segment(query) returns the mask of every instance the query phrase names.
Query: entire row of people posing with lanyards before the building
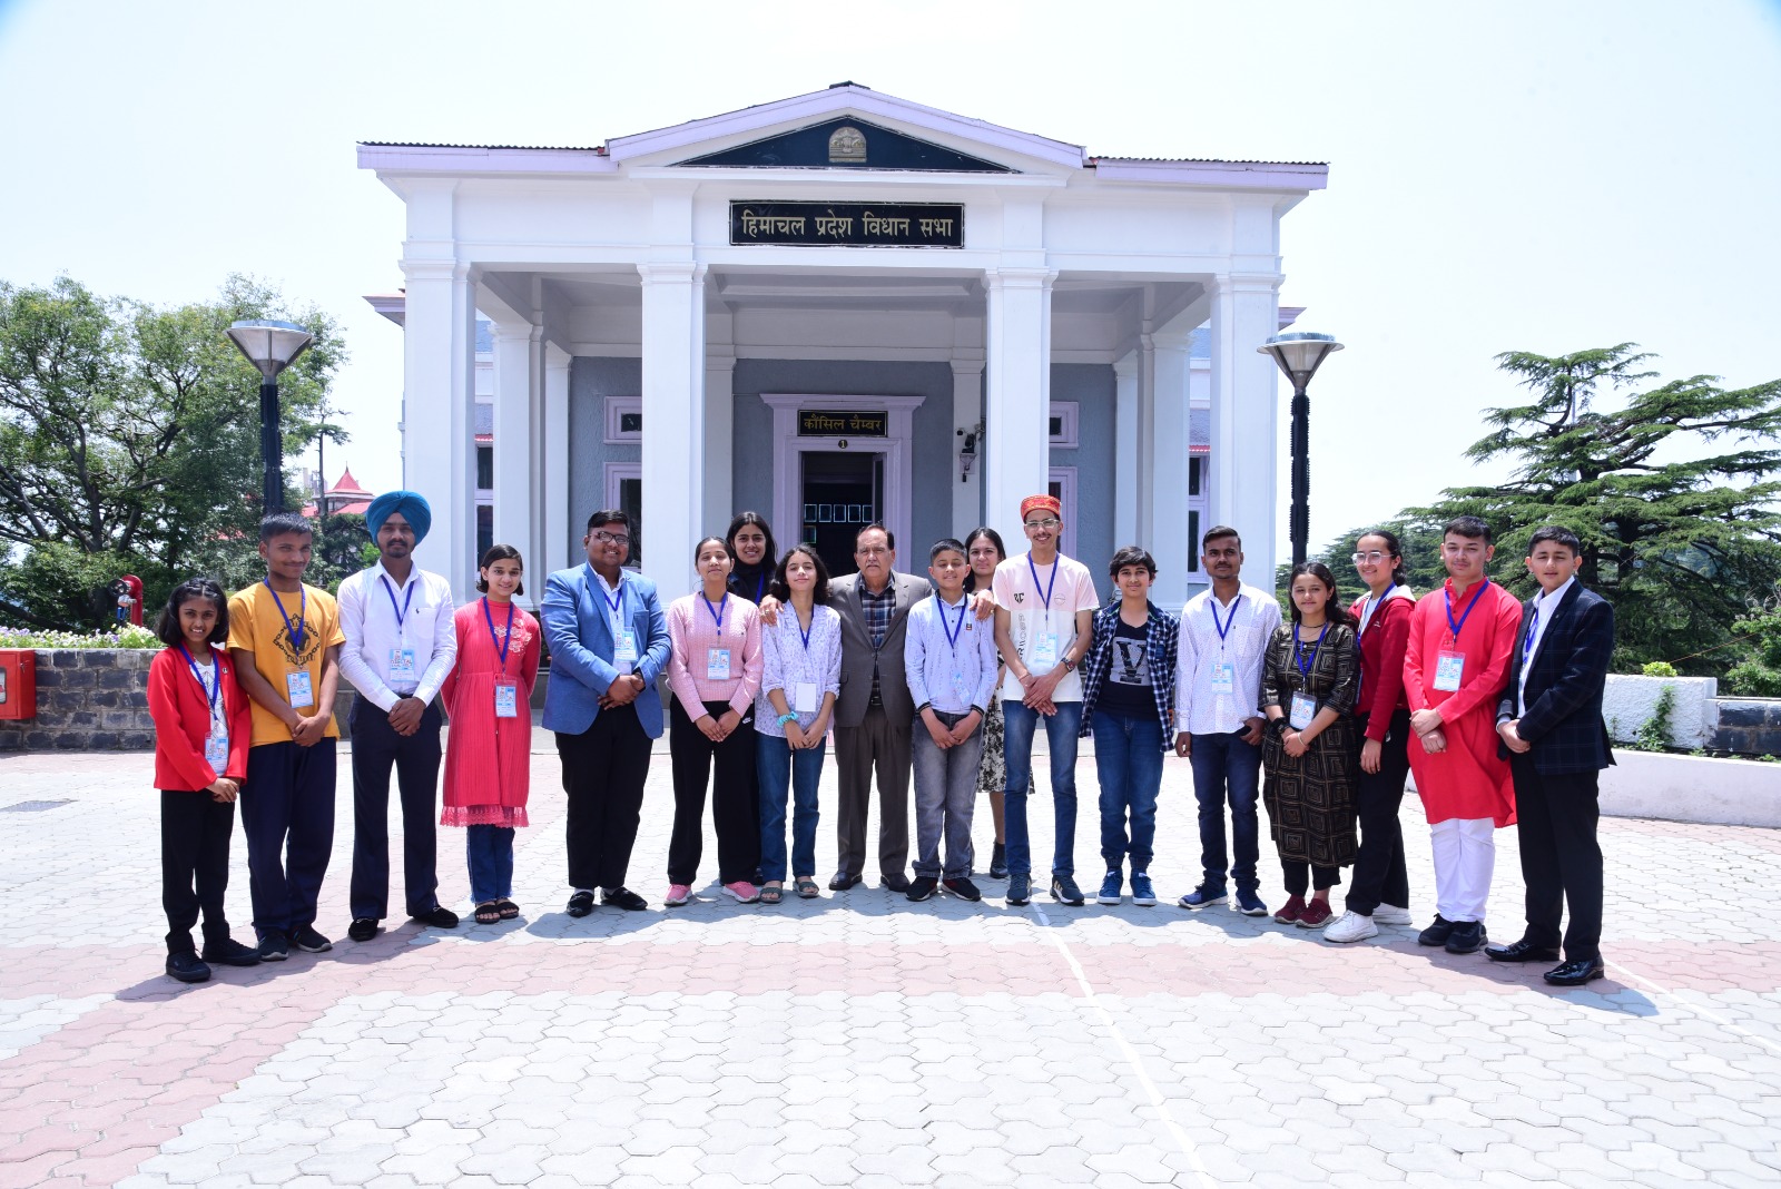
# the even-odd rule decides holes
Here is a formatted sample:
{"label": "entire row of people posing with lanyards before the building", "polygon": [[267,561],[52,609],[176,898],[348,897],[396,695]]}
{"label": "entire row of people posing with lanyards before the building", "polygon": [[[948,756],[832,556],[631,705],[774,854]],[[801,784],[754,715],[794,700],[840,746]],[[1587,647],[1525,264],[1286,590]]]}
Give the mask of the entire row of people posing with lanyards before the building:
{"label": "entire row of people posing with lanyards before the building", "polygon": [[[630,518],[597,511],[582,538],[586,564],[549,575],[533,618],[515,605],[524,561],[508,545],[481,559],[481,598],[452,607],[451,584],[413,564],[431,513],[411,491],[370,504],[379,561],[346,578],[338,600],[303,584],[308,522],[267,516],[264,582],[226,602],[214,582],[185,582],[159,623],[167,648],[150,673],[150,707],[167,974],[203,981],[207,963],[331,947],[315,929],[315,902],[333,845],[331,707],[342,675],[358,691],[349,936],[370,940],[388,915],[392,769],[406,913],[458,926],[436,899],[442,707],[452,732],[440,822],[467,828],[476,918],[516,917],[529,703],[549,648],[541,721],[556,735],[566,796],[570,917],[597,904],[648,908],[627,876],[666,683],[670,908],[698,886],[707,792],[723,895],[744,904],[821,895],[817,785],[830,735],[839,765],[830,890],[864,879],[876,787],[883,886],[912,901],[940,888],[981,899],[971,831],[976,797],[988,794],[988,874],[1008,881],[1008,904],[1026,904],[1026,796],[1033,735],[1044,728],[1049,892],[1061,904],[1086,902],[1074,870],[1079,737],[1095,740],[1097,902],[1118,904],[1127,878],[1134,904],[1156,902],[1156,803],[1174,751],[1191,762],[1204,870],[1179,904],[1227,902],[1234,883],[1232,908],[1268,913],[1259,794],[1288,894],[1273,918],[1325,929],[1330,942],[1411,920],[1398,808],[1414,771],[1435,860],[1435,918],[1419,940],[1459,954],[1485,949],[1494,829],[1517,822],[1528,926],[1487,954],[1558,961],[1569,902],[1565,961],[1546,979],[1601,977],[1596,778],[1614,762],[1601,721],[1614,619],[1576,584],[1582,546],[1569,530],[1533,534],[1526,564],[1541,593],[1526,605],[1485,577],[1494,545],[1482,520],[1446,525],[1450,577],[1419,600],[1403,584],[1396,536],[1370,532],[1354,554],[1368,593],[1343,607],[1329,568],[1304,562],[1291,571],[1282,621],[1272,594],[1241,582],[1234,529],[1204,534],[1209,589],[1175,618],[1149,598],[1156,562],[1143,548],[1113,555],[1117,594],[1102,603],[1088,568],[1060,548],[1058,500],[1028,497],[1021,520],[1026,552],[1010,557],[997,532],[980,527],[933,543],[926,578],[899,573],[892,534],[867,525],[855,539],[858,571],[832,578],[812,546],[780,554],[768,523],[743,513],[723,538],[695,545],[700,589],[664,609],[655,584],[625,566]],[[216,648],[224,643],[226,655]],[[255,947],[230,938],[223,913],[237,797]],[[1354,867],[1346,911],[1332,920],[1329,892],[1343,867]],[[201,952],[191,936],[199,915]]]}

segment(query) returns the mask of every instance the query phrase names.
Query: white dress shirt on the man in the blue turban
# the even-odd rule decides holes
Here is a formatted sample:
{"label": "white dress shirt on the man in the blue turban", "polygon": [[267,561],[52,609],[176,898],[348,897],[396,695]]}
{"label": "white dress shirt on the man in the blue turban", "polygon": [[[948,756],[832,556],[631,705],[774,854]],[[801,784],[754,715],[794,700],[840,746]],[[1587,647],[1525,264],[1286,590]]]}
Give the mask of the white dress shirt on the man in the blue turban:
{"label": "white dress shirt on the man in the blue turban", "polygon": [[[410,594],[413,591],[413,594]],[[378,708],[388,710],[403,698],[433,701],[445,675],[458,662],[458,628],[452,623],[451,582],[420,566],[397,582],[379,561],[340,582],[340,673]],[[397,623],[397,611],[406,611]],[[395,675],[399,650],[415,653],[413,676]]]}

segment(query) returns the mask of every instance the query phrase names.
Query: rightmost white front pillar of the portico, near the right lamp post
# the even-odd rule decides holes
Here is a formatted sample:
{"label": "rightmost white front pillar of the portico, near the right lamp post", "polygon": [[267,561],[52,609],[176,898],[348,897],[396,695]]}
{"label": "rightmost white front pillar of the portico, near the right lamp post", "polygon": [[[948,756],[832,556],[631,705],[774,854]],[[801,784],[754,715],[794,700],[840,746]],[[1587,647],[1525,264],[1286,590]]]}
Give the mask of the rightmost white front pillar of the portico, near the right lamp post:
{"label": "rightmost white front pillar of the portico, near the right lamp post", "polygon": [[[1213,281],[1211,523],[1243,538],[1243,580],[1273,589],[1277,557],[1281,408],[1275,365],[1259,347],[1275,333],[1279,274],[1225,274]],[[1211,525],[1208,525],[1211,527]]]}

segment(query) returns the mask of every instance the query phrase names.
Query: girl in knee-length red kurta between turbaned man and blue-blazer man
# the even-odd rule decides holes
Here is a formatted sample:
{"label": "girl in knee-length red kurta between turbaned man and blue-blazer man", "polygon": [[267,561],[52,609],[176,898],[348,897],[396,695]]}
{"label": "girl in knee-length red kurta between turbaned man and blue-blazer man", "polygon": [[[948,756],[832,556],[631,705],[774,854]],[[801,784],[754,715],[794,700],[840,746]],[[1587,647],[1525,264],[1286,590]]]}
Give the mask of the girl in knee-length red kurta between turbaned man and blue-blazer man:
{"label": "girl in knee-length red kurta between turbaned man and blue-blazer man", "polygon": [[513,831],[531,792],[533,685],[538,682],[538,619],[513,605],[524,594],[520,550],[483,554],[476,589],[458,609],[458,667],[440,687],[451,716],[442,826],[467,826],[470,899],[479,924],[520,915],[513,902]]}

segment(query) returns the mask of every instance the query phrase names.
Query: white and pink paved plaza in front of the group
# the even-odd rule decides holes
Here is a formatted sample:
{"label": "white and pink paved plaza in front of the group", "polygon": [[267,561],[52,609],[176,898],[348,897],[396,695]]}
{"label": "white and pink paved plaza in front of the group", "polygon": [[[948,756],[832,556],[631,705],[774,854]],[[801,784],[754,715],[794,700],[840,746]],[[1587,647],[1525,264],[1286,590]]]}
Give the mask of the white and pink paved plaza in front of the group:
{"label": "white and pink paved plaza in front of the group", "polygon": [[[871,867],[848,894],[737,906],[707,840],[698,902],[668,911],[657,753],[630,879],[652,910],[570,920],[540,753],[524,915],[397,918],[354,945],[342,753],[317,922],[333,952],[187,988],[160,974],[150,772],[146,755],[0,758],[0,1189],[1781,1184],[1781,831],[1605,821],[1608,977],[1555,991],[1414,927],[1334,947],[1175,908],[1199,867],[1179,760],[1156,908],[1008,908],[988,879],[981,904],[910,904]],[[1092,760],[1079,787],[1092,892]],[[832,806],[830,764],[823,883]],[[1049,797],[1031,817],[1049,854]],[[1403,826],[1425,924],[1414,797]],[[987,806],[976,837],[981,869]],[[249,938],[239,824],[233,858]],[[461,831],[440,829],[440,876],[468,913]],[[1519,936],[1519,897],[1509,829],[1492,938]]]}

